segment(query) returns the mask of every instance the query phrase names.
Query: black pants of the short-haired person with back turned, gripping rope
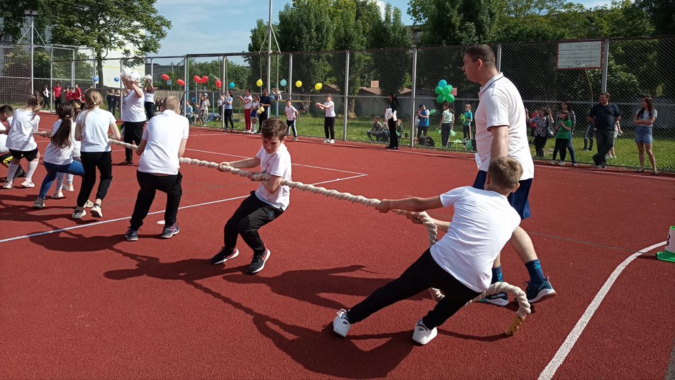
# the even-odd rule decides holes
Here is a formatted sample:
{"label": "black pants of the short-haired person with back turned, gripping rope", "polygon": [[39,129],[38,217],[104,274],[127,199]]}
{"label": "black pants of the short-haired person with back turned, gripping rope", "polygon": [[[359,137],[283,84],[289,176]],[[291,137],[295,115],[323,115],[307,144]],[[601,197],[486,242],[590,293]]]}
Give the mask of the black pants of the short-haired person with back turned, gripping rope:
{"label": "black pants of the short-haired person with back turned, gripping rope", "polygon": [[167,194],[167,208],[164,211],[164,227],[170,227],[176,223],[178,206],[181,202],[183,189],[181,183],[183,175],[178,173],[169,176],[158,176],[150,173],[136,172],[136,179],[140,189],[136,196],[136,204],[133,206],[131,215],[131,228],[138,230],[143,225],[143,219],[150,211],[152,201],[155,200],[157,190]]}

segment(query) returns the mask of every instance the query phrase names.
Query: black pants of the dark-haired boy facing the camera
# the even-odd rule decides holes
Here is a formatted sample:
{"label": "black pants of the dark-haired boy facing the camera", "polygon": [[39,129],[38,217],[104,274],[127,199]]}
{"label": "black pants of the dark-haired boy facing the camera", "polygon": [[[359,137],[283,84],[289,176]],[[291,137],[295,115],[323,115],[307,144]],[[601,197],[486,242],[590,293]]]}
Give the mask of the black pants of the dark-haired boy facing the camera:
{"label": "black pants of the dark-haired boy facing the camera", "polygon": [[264,203],[257,196],[255,191],[244,199],[234,215],[225,223],[225,251],[232,252],[237,246],[237,235],[253,250],[254,255],[263,255],[265,245],[260,239],[258,230],[272,220],[279,218],[284,213],[281,208],[276,208]]}

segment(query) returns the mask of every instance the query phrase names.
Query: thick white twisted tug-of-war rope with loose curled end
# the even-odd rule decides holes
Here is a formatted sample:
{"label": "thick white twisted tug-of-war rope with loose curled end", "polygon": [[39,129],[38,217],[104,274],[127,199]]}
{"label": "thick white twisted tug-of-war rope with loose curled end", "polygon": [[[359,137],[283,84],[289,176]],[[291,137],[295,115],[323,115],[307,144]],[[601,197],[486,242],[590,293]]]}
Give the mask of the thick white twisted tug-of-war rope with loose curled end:
{"label": "thick white twisted tug-of-war rope with loose curled end", "polygon": [[[119,145],[121,147],[125,147],[127,149],[136,149],[136,145],[128,144],[128,143],[123,143],[118,140],[110,140],[110,143],[113,145]],[[230,167],[228,165],[221,165],[217,164],[216,162],[208,162],[208,161],[203,161],[203,160],[195,160],[192,158],[188,157],[181,157],[179,159],[179,162],[183,164],[191,164],[191,165],[196,165],[199,167],[209,167],[213,169],[219,169],[222,172],[228,172],[232,174],[236,174],[240,177],[245,177],[248,179],[252,179],[253,181],[264,181],[270,178],[269,174],[267,173],[252,173],[252,172],[246,172],[245,170],[237,169],[235,167]],[[308,191],[313,194],[320,194],[323,196],[328,196],[329,198],[335,198],[340,201],[350,201],[352,203],[361,203],[364,204],[365,206],[370,206],[370,207],[375,207],[380,203],[379,199],[374,199],[374,198],[366,198],[364,196],[360,195],[353,195],[350,193],[340,193],[340,191],[336,190],[331,190],[331,189],[325,189],[324,187],[319,187],[319,186],[313,186],[311,184],[303,184],[302,182],[295,182],[295,181],[289,181],[286,179],[281,180],[281,185],[283,186],[289,186],[291,189],[297,189],[301,191]],[[420,212],[420,213],[415,213],[412,211],[405,211],[405,210],[392,210],[394,213],[397,213],[398,215],[403,215],[403,216],[413,216],[413,218],[418,219],[422,222],[422,224],[427,228],[427,238],[429,240],[429,245],[434,245],[436,242],[437,238],[437,228],[435,223],[433,222],[433,219],[429,216],[428,213],[425,212]],[[433,298],[436,301],[440,301],[444,296],[438,289],[429,289]],[[525,292],[523,289],[520,289],[518,286],[513,286],[510,284],[507,284],[506,282],[497,282],[495,284],[491,284],[491,286],[484,291],[481,295],[476,296],[476,298],[472,299],[467,303],[476,302],[480,301],[482,298],[485,298],[486,296],[491,296],[496,293],[500,292],[506,292],[508,294],[511,294],[512,296],[515,296],[515,300],[518,301],[518,311],[516,312],[517,318],[520,318],[520,322],[522,322],[523,318],[530,314],[530,303],[528,302],[528,298],[525,295]],[[513,326],[513,323],[512,323]],[[510,328],[511,329],[511,328]],[[518,327],[515,327],[515,330],[517,330]],[[513,333],[515,333],[515,330]],[[512,335],[507,334],[508,335]]]}

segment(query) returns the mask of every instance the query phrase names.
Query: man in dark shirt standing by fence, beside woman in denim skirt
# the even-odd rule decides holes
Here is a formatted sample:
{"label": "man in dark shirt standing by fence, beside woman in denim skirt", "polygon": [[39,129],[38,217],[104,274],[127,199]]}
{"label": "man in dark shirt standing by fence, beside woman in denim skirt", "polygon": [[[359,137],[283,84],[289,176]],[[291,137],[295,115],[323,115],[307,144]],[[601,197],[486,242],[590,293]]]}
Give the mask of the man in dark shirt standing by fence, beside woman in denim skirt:
{"label": "man in dark shirt standing by fence, beside woman in denim skirt", "polygon": [[596,147],[598,153],[593,155],[598,169],[607,167],[605,155],[614,147],[614,123],[621,118],[619,107],[609,102],[609,93],[607,91],[600,93],[600,103],[591,108],[588,113],[588,123],[596,128]]}

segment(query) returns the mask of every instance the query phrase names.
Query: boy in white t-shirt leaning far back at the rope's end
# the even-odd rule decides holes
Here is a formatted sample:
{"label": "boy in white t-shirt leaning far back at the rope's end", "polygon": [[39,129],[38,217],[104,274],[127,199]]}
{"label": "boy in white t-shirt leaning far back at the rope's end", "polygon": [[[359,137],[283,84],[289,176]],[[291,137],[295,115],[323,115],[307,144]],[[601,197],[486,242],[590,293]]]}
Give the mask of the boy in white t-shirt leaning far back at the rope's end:
{"label": "boy in white t-shirt leaning far back at the rope's end", "polygon": [[[432,311],[418,320],[413,340],[427,344],[437,334],[437,326],[457,313],[472,298],[486,291],[492,278],[492,263],[506,245],[520,216],[506,197],[518,189],[523,172],[518,161],[499,157],[490,162],[484,190],[459,187],[432,198],[384,200],[377,210],[426,211],[454,207],[450,222],[433,219],[443,238],[426,250],[398,279],[373,292],[350,311],[338,311],[333,330],[347,336],[354,323],[393,303],[428,288],[445,294]],[[415,223],[418,214],[409,216]]]}

